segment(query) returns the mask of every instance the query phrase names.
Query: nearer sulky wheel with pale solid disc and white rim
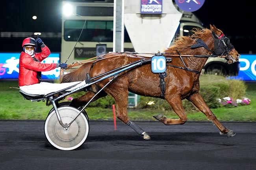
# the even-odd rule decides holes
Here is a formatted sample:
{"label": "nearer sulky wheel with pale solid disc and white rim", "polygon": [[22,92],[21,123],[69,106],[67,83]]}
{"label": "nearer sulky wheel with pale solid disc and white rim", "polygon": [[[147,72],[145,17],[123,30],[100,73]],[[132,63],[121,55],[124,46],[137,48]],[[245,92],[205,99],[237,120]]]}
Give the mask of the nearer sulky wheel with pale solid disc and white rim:
{"label": "nearer sulky wheel with pale solid disc and white rim", "polygon": [[[80,112],[72,106],[58,108],[63,124],[69,124]],[[45,120],[45,136],[54,147],[60,150],[74,150],[81,146],[89,133],[89,123],[83,114],[66,129],[59,124],[55,110],[52,110]]]}

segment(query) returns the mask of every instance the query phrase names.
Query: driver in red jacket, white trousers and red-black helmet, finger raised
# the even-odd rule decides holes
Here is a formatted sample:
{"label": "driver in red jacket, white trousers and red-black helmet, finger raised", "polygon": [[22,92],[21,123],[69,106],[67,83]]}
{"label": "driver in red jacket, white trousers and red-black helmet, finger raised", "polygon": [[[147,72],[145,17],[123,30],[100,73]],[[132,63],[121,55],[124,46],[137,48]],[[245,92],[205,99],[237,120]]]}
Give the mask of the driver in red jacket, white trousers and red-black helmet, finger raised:
{"label": "driver in red jacket, white trousers and red-black helmet, finger raised", "polygon": [[[41,46],[42,52],[35,53],[37,44]],[[51,92],[68,88],[80,82],[50,83],[42,82],[41,71],[50,71],[55,68],[66,68],[66,63],[42,63],[50,55],[50,49],[37,35],[25,38],[22,42],[23,51],[20,53],[19,61],[19,87],[20,90],[31,95],[46,95]]]}

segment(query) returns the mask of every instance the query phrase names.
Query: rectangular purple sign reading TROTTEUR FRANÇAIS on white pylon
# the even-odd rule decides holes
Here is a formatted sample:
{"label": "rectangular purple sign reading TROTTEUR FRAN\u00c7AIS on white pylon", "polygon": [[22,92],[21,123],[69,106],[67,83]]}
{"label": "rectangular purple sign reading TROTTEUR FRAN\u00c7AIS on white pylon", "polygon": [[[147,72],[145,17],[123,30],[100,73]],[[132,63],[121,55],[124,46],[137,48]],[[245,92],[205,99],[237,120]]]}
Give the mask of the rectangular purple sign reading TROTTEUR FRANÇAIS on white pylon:
{"label": "rectangular purple sign reading TROTTEUR FRAN\u00c7AIS on white pylon", "polygon": [[142,14],[161,14],[163,0],[141,0]]}

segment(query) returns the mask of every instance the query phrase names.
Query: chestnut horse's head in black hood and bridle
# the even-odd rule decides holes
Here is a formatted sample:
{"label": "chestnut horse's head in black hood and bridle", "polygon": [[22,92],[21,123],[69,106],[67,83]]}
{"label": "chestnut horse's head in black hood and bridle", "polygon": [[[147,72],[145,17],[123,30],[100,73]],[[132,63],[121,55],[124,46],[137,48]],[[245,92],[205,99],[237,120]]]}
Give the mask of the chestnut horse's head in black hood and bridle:
{"label": "chestnut horse's head in black hood and bridle", "polygon": [[220,29],[217,29],[214,25],[211,26],[211,34],[214,40],[214,50],[216,55],[225,56],[228,64],[232,64],[238,61],[240,54],[236,51],[234,46],[230,43],[228,37],[226,37]]}

